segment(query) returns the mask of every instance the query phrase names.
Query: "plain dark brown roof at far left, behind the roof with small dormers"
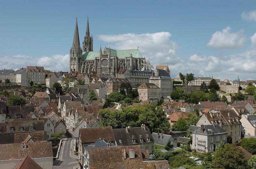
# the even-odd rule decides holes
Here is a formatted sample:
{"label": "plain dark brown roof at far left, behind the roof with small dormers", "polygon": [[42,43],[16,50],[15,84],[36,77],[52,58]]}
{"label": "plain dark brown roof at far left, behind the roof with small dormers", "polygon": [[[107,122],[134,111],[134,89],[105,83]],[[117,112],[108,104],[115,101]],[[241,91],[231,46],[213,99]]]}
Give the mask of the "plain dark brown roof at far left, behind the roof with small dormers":
{"label": "plain dark brown roof at far left, behind the roof with small dormers", "polygon": [[34,112],[34,106],[7,106],[7,115],[15,118],[15,114],[19,114],[22,118],[26,118],[30,112]]}

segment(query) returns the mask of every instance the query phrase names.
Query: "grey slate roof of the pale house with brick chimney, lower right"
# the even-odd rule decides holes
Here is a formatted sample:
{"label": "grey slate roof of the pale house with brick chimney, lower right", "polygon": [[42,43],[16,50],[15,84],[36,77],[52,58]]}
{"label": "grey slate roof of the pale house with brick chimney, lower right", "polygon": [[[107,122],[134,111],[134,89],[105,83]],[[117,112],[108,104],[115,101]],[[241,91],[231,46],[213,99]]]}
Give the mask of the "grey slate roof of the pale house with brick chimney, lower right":
{"label": "grey slate roof of the pale house with brick chimney, lower right", "polygon": [[[215,127],[213,127],[213,124],[204,125],[203,135],[209,136],[209,135],[213,135],[213,134],[227,133],[227,131],[222,129],[218,124],[215,124],[214,126]],[[195,129],[196,129],[196,134],[201,134],[201,127],[200,126],[190,125],[188,127],[188,131],[192,131],[192,133],[195,132]],[[213,134],[211,133],[211,131],[213,131]]]}

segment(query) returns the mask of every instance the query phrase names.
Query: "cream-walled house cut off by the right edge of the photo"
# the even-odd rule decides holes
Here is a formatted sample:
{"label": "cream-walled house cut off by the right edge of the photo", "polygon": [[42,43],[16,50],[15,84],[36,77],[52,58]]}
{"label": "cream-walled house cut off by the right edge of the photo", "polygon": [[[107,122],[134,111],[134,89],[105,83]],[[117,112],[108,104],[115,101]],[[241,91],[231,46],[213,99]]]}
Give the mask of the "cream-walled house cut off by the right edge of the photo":
{"label": "cream-walled house cut off by the right edge of the photo", "polygon": [[256,136],[256,114],[244,115],[242,114],[241,123],[244,128],[245,136]]}

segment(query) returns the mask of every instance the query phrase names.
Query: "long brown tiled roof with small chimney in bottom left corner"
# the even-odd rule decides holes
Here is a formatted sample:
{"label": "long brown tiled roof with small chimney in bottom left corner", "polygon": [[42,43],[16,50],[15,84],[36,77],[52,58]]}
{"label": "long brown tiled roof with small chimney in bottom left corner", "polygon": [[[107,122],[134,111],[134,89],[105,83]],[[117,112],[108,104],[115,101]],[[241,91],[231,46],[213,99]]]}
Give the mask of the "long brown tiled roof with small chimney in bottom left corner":
{"label": "long brown tiled roof with small chimney in bottom left corner", "polygon": [[27,143],[26,149],[21,149],[21,143],[0,144],[0,160],[53,157],[51,142]]}

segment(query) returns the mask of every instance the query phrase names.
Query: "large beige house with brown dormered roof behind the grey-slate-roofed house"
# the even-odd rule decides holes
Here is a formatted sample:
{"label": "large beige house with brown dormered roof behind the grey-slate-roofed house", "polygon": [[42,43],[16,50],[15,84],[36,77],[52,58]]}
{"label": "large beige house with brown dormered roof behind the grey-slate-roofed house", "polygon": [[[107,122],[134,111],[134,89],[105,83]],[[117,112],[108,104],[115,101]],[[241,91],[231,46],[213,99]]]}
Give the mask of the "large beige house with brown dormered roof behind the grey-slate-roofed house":
{"label": "large beige house with brown dormered roof behind the grey-slate-roofed house", "polygon": [[219,124],[219,126],[227,131],[228,136],[232,136],[232,141],[241,140],[241,117],[234,110],[219,110],[218,113],[205,113],[196,123],[196,126],[201,124]]}

